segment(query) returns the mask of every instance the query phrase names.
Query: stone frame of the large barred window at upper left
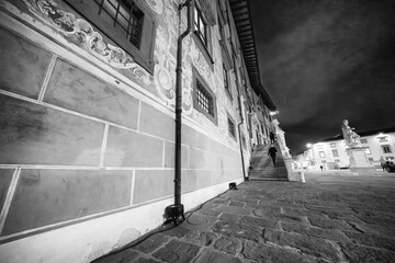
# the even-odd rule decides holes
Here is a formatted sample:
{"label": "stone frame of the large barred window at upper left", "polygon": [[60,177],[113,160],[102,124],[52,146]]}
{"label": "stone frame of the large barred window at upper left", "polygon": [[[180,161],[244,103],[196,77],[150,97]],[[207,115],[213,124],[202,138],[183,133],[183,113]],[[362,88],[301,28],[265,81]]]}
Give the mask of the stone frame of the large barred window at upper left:
{"label": "stone frame of the large barred window at upper left", "polygon": [[66,0],[66,2],[84,19],[87,19],[87,21],[98,27],[115,45],[131,55],[139,66],[146,69],[150,75],[154,75],[154,49],[157,25],[153,14],[150,13],[149,7],[143,4],[142,1],[131,0],[131,2],[133,2],[133,4],[137,7],[144,14],[142,22],[143,27],[140,33],[140,42],[138,46],[135,46],[126,38],[126,35],[120,34],[120,32],[112,30],[114,27],[114,21],[109,19],[110,15],[106,15],[108,18],[104,19],[102,13],[105,12],[101,12],[100,14],[98,13],[97,10],[99,10],[100,5],[95,1]]}

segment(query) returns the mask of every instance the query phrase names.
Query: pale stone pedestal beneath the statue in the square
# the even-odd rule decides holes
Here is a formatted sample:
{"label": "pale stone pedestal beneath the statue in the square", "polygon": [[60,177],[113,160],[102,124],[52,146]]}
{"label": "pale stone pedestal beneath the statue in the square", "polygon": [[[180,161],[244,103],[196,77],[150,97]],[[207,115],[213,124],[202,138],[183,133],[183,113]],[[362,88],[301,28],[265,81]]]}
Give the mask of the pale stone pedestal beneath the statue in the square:
{"label": "pale stone pedestal beneath the statue in the square", "polygon": [[350,158],[350,171],[359,175],[374,175],[375,168],[369,163],[366,147],[351,148],[347,150]]}

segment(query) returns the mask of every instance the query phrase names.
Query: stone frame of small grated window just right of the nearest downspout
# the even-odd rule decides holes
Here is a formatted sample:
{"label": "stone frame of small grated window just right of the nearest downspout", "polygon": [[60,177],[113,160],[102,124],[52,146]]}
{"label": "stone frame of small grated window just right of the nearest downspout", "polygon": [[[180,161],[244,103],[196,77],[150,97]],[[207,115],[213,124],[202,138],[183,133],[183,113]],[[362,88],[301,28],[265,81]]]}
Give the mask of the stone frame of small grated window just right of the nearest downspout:
{"label": "stone frame of small grated window just right of the nearest downspout", "polygon": [[[208,88],[208,84],[204,81],[203,77],[198,72],[196,69],[193,68],[193,107],[204,114],[210,121],[212,121],[215,125],[218,124],[217,119],[217,106],[216,106],[216,96],[214,92]],[[208,113],[205,108],[203,108],[198,102],[198,89],[203,89],[204,92],[210,96],[210,103],[212,107],[212,114]]]}

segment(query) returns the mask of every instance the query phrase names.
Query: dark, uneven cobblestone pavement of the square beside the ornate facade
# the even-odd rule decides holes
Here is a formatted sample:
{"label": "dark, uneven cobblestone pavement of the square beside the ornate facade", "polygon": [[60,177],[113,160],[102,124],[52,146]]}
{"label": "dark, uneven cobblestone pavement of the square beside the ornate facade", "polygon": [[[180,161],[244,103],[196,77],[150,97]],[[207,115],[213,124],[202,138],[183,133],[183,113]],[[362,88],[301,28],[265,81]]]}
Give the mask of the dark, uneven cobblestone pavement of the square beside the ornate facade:
{"label": "dark, uneven cobblestone pavement of the square beside the ornate facade", "polygon": [[395,174],[246,182],[97,263],[395,262]]}

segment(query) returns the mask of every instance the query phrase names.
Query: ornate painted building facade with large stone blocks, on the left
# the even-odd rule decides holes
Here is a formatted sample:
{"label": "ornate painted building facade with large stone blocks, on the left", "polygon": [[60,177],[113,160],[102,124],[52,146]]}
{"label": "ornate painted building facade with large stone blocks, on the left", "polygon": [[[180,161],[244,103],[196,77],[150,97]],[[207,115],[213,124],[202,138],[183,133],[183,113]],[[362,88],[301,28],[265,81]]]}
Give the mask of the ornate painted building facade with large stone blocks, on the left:
{"label": "ornate painted building facade with large stone blocks, on the left", "polygon": [[[0,1],[0,262],[90,262],[163,222],[183,3]],[[195,0],[192,13],[179,65],[185,210],[244,181],[275,110],[251,68],[248,1]]]}

